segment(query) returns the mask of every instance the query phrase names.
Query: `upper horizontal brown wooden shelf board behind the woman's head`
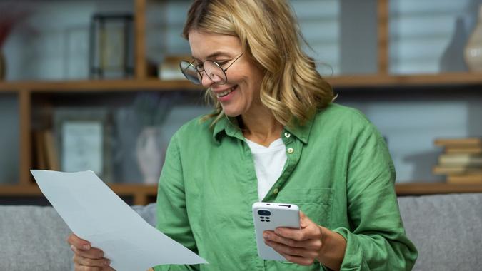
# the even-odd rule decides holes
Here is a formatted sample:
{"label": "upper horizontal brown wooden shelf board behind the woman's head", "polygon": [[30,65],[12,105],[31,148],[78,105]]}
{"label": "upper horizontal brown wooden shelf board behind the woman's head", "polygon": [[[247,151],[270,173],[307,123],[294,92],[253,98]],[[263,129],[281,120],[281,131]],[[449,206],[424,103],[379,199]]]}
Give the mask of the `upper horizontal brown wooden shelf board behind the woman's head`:
{"label": "upper horizontal brown wooden shelf board behind the woman's head", "polygon": [[[406,76],[353,75],[326,77],[334,88],[470,86],[482,85],[482,73],[438,73]],[[0,92],[28,90],[33,92],[79,91],[201,91],[189,81],[146,80],[79,80],[79,81],[4,81]]]}

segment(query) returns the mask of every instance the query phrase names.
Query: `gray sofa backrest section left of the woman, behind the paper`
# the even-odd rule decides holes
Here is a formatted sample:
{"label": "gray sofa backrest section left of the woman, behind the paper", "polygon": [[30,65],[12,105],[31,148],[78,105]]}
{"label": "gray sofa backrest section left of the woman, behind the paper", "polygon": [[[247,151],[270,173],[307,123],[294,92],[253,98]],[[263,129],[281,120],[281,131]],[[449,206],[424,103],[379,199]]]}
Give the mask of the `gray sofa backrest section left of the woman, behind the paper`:
{"label": "gray sofa backrest section left of the woman, behind the paper", "polygon": [[[156,205],[132,206],[156,224]],[[71,230],[51,207],[0,205],[0,270],[73,270]]]}

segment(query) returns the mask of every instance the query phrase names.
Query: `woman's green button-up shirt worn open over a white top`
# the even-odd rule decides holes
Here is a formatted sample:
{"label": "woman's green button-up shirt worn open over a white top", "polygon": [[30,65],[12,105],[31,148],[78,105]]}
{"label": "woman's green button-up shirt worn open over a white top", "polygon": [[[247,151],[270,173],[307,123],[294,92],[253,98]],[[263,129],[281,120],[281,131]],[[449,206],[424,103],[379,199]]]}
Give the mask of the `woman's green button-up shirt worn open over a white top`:
{"label": "woman's green button-up shirt worn open over a white top", "polygon": [[[171,138],[159,180],[157,228],[209,265],[155,270],[327,270],[261,260],[251,205],[258,201],[251,150],[235,118],[213,128],[199,118]],[[394,189],[395,169],[376,128],[331,103],[303,126],[284,128],[288,159],[265,202],[294,203],[347,242],[341,270],[411,270]]]}

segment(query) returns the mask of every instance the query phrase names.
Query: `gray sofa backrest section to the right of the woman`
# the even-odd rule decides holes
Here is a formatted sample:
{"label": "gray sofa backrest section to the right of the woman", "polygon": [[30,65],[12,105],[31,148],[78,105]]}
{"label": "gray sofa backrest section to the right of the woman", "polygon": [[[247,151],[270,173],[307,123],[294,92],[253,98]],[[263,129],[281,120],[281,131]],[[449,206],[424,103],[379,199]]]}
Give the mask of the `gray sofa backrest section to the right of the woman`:
{"label": "gray sofa backrest section to the right of the woman", "polygon": [[413,270],[481,270],[482,193],[399,197]]}

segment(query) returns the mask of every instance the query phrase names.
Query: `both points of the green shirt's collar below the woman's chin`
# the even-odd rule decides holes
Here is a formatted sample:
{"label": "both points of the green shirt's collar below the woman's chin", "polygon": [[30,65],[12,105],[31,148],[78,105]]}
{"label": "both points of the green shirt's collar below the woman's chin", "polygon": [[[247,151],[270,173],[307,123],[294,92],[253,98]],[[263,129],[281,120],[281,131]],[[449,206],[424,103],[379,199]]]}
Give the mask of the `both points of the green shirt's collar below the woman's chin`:
{"label": "both points of the green shirt's collar below the woman's chin", "polygon": [[[311,126],[313,126],[313,118],[316,117],[316,114],[308,119],[304,125],[300,125],[298,121],[295,121],[291,128],[285,127],[284,130],[288,133],[291,133],[293,136],[296,136],[301,142],[308,143],[308,138],[311,132]],[[233,136],[235,138],[239,138],[243,140],[243,133],[239,128],[239,122],[237,118],[231,117],[221,117],[219,121],[216,122],[214,125],[213,130],[213,138],[216,143],[220,143],[221,135],[224,132],[228,136]]]}

